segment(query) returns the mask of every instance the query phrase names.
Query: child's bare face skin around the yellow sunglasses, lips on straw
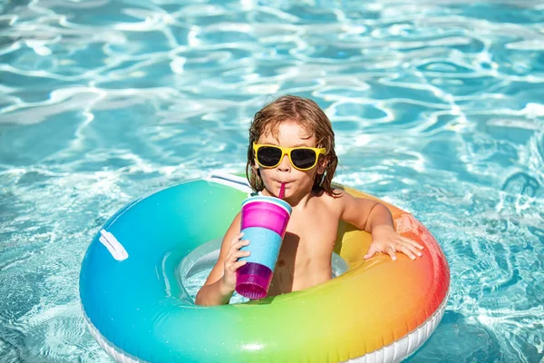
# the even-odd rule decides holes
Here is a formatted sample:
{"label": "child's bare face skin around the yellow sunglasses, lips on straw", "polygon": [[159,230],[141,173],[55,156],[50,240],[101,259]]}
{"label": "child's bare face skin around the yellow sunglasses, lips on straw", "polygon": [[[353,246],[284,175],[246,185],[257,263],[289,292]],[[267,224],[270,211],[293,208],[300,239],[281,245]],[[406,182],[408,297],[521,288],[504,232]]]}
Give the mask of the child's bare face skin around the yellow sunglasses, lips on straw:
{"label": "child's bare face skin around the yellow sunglasses, lips on straw", "polygon": [[[316,135],[307,132],[295,122],[279,123],[277,136],[270,131],[264,132],[257,140],[260,144],[278,145],[283,147],[317,146]],[[314,186],[316,174],[325,172],[326,160],[323,158],[316,163],[312,169],[307,171],[297,170],[284,155],[281,162],[274,168],[264,168],[257,163],[254,168],[259,169],[262,181],[265,184],[265,191],[270,195],[279,195],[283,182],[286,183],[285,198],[293,196],[302,197],[309,193]]]}

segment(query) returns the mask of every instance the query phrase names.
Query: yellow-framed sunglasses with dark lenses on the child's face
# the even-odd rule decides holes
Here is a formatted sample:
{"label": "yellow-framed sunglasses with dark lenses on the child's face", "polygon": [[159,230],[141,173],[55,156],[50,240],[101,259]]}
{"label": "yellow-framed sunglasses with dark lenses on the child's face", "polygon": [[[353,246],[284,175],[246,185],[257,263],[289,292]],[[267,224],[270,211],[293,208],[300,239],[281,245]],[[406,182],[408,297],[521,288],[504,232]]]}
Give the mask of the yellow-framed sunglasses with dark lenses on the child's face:
{"label": "yellow-framed sunglasses with dark lenses on the child's face", "polygon": [[319,155],[325,155],[325,148],[300,146],[286,148],[277,145],[266,145],[253,142],[253,151],[257,163],[263,168],[276,168],[284,155],[289,157],[291,164],[299,171],[307,171],[316,166]]}

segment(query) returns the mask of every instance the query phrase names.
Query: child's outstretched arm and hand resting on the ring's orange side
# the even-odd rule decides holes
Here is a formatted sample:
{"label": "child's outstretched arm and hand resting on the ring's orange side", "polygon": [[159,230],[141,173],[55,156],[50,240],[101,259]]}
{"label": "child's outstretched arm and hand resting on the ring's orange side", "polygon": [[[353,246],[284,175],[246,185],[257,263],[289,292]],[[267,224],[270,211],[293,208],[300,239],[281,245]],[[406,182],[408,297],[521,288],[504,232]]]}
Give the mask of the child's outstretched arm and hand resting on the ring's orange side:
{"label": "child's outstretched arm and hand resting on the ring's orange side", "polygon": [[352,223],[355,227],[372,234],[372,243],[364,255],[364,260],[374,256],[376,252],[387,253],[396,260],[396,251],[415,260],[415,256],[422,256],[423,246],[414,240],[407,239],[393,228],[391,212],[378,201],[364,198],[355,198],[343,192],[340,197],[342,211],[340,218]]}

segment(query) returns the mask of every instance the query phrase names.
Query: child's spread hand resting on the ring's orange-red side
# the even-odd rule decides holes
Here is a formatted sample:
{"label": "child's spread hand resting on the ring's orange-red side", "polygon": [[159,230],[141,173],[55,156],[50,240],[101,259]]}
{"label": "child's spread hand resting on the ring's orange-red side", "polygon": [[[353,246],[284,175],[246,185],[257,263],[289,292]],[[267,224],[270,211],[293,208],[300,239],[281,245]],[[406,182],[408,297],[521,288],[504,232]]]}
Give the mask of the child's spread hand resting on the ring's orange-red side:
{"label": "child's spread hand resting on the ring's orange-red side", "polygon": [[372,243],[368,252],[364,255],[364,260],[374,256],[376,252],[387,253],[392,260],[396,260],[395,251],[403,252],[406,256],[415,260],[415,256],[422,256],[423,246],[414,240],[407,239],[396,231],[393,227],[383,225],[376,226],[372,230]]}

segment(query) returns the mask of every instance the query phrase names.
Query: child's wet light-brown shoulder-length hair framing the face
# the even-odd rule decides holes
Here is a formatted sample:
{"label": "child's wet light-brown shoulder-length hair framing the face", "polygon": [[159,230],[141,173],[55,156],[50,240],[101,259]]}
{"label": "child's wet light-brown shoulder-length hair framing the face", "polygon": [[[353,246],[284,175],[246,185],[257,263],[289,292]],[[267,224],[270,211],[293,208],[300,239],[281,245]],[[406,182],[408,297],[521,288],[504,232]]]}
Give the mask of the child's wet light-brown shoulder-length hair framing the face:
{"label": "child's wet light-brown shoulder-length hair framing the face", "polygon": [[335,176],[338,158],[335,153],[335,132],[326,114],[312,100],[285,95],[277,100],[268,103],[260,111],[255,113],[253,122],[249,127],[248,164],[246,165],[246,176],[253,191],[265,189],[260,173],[253,168],[256,164],[253,142],[265,132],[271,132],[277,136],[280,123],[297,123],[306,132],[316,136],[318,148],[325,148],[326,155],[320,158],[327,158],[325,172],[317,174],[314,180],[314,189],[322,189],[328,195],[335,196],[331,182]]}

